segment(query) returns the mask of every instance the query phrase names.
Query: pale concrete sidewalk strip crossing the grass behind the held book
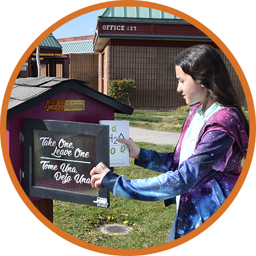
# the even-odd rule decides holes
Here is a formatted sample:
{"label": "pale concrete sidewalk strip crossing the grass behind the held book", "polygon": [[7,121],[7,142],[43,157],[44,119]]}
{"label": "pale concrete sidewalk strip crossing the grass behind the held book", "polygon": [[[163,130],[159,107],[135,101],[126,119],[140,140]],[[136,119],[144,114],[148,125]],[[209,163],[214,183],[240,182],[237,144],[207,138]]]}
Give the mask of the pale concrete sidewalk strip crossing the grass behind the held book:
{"label": "pale concrete sidewalk strip crossing the grass behind the held book", "polygon": [[168,133],[130,127],[130,137],[135,142],[151,142],[157,145],[170,144],[176,146],[180,133]]}

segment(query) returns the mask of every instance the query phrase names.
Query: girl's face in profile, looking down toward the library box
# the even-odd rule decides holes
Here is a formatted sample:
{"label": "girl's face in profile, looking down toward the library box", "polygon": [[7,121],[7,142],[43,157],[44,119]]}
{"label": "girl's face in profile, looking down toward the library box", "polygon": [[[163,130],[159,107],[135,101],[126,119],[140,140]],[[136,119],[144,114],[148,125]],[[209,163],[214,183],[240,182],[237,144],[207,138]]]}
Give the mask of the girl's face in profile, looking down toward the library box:
{"label": "girl's face in profile, looking down toward the library box", "polygon": [[188,74],[184,73],[180,66],[175,67],[176,77],[179,81],[177,92],[182,93],[183,99],[188,105],[203,102],[206,95],[206,87],[196,81]]}

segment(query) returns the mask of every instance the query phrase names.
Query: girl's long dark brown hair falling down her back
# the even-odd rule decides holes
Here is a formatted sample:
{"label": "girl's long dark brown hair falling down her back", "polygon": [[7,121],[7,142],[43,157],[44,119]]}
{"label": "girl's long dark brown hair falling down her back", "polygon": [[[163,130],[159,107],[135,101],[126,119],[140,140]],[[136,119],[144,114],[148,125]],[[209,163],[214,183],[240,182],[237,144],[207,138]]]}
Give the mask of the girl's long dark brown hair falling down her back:
{"label": "girl's long dark brown hair falling down her back", "polygon": [[226,65],[216,49],[209,45],[189,47],[178,55],[176,65],[181,67],[183,72],[190,75],[197,83],[206,87],[207,93],[202,102],[203,106],[206,106],[211,98],[222,106],[237,108],[243,117],[249,135],[249,122],[233,88]]}

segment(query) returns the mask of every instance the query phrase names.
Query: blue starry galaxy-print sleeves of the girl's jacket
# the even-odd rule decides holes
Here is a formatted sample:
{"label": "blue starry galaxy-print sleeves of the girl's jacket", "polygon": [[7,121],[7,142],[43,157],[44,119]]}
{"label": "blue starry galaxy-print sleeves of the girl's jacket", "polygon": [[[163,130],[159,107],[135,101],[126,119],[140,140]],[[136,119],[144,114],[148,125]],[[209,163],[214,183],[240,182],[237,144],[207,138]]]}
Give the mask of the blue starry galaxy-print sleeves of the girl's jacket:
{"label": "blue starry galaxy-print sleeves of the girl's jacket", "polygon": [[[175,172],[168,171],[157,177],[136,180],[126,180],[123,175],[109,172],[101,186],[115,196],[126,199],[160,201],[173,198],[194,189],[209,177],[216,177],[228,162],[233,142],[227,133],[212,131],[203,136],[194,153]],[[142,152],[145,153],[144,150]],[[153,166],[153,169],[160,169],[161,166],[169,166],[171,161],[171,157],[166,157],[165,153],[155,151],[147,152],[146,157],[142,164],[146,168]],[[165,162],[156,164],[156,159],[157,162],[159,159]]]}

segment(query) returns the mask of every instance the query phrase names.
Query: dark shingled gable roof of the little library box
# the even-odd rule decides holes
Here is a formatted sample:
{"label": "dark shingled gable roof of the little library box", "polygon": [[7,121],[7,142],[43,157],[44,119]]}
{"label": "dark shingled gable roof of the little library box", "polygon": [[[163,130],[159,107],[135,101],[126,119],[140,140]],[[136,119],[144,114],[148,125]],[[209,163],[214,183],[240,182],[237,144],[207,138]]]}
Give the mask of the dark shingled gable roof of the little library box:
{"label": "dark shingled gable roof of the little library box", "polygon": [[133,113],[130,106],[90,88],[87,84],[86,81],[59,77],[18,78],[10,96],[7,118],[70,89],[113,106],[115,112],[130,115]]}

